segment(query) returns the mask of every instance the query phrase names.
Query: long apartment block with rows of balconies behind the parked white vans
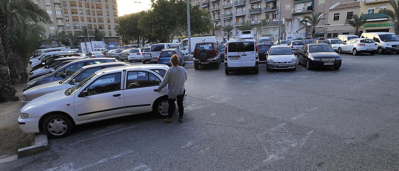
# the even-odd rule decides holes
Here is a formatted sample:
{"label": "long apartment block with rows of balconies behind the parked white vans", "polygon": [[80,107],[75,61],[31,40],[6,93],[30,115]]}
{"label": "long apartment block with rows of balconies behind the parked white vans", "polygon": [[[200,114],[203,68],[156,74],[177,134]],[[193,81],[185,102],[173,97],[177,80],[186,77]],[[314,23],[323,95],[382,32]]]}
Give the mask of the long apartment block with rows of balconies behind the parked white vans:
{"label": "long apartment block with rows of balconies behind the parked white vans", "polygon": [[[354,0],[281,0],[281,18],[300,18],[311,15],[312,12],[322,12],[326,14],[326,20],[322,20],[316,28],[316,36],[326,36],[326,26],[329,18],[329,8],[340,2],[353,2]],[[190,0],[192,5],[198,5],[200,8],[208,11],[212,22],[221,26],[232,25],[239,26],[241,22],[249,20],[252,24],[258,24],[260,20],[267,19],[276,21],[279,19],[278,11],[280,8],[279,0]],[[256,26],[253,30],[259,30]],[[238,35],[237,29],[231,32],[231,35]],[[311,34],[308,28],[306,34]],[[224,37],[226,33],[222,30],[215,32],[217,37]],[[262,35],[255,35],[259,38]]]}

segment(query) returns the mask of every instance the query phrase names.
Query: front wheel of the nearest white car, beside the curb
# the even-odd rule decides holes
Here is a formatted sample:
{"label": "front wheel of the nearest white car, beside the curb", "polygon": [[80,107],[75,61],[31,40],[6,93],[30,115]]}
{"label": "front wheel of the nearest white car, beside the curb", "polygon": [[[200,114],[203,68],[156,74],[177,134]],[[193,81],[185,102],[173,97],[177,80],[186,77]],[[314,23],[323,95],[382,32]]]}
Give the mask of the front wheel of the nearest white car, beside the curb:
{"label": "front wheel of the nearest white car, beside the curb", "polygon": [[42,130],[51,138],[63,138],[68,136],[74,123],[69,117],[61,114],[51,114],[43,120]]}

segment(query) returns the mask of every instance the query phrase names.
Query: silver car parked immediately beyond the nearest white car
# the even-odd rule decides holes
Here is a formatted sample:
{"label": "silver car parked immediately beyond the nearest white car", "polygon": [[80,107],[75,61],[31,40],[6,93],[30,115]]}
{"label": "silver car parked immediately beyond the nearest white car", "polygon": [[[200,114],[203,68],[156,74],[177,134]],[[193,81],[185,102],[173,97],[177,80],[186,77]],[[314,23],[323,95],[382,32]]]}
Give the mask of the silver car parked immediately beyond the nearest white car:
{"label": "silver car parked immediately beyond the nearest white car", "polygon": [[29,101],[36,99],[42,95],[73,87],[98,70],[127,65],[130,64],[126,64],[124,62],[106,62],[102,64],[83,66],[80,70],[77,70],[77,72],[73,73],[70,77],[65,78],[64,80],[49,82],[38,85],[36,87],[32,87],[31,89],[27,89],[26,91],[24,91],[24,93],[22,93],[22,97],[24,97],[25,99],[24,101],[22,101],[22,103],[26,104]]}

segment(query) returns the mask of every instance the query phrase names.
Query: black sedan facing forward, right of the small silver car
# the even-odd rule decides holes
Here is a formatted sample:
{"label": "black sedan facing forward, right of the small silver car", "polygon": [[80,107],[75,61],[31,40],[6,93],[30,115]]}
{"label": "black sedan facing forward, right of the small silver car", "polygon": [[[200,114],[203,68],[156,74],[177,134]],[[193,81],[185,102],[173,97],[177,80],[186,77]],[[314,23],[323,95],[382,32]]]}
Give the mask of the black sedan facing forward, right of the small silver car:
{"label": "black sedan facing forward, right of the small silver car", "polygon": [[306,44],[298,50],[298,65],[306,64],[306,69],[341,67],[341,57],[328,44]]}

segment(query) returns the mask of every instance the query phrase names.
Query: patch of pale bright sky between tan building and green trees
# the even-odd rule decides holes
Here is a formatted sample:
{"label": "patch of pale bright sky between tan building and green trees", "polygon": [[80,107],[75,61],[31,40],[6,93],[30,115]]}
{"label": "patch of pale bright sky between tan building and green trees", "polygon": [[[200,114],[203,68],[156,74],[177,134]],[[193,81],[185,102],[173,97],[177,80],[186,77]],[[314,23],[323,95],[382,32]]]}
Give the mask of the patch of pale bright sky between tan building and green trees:
{"label": "patch of pale bright sky between tan building and green trees", "polygon": [[151,0],[117,0],[117,3],[118,16],[132,14],[151,8]]}

